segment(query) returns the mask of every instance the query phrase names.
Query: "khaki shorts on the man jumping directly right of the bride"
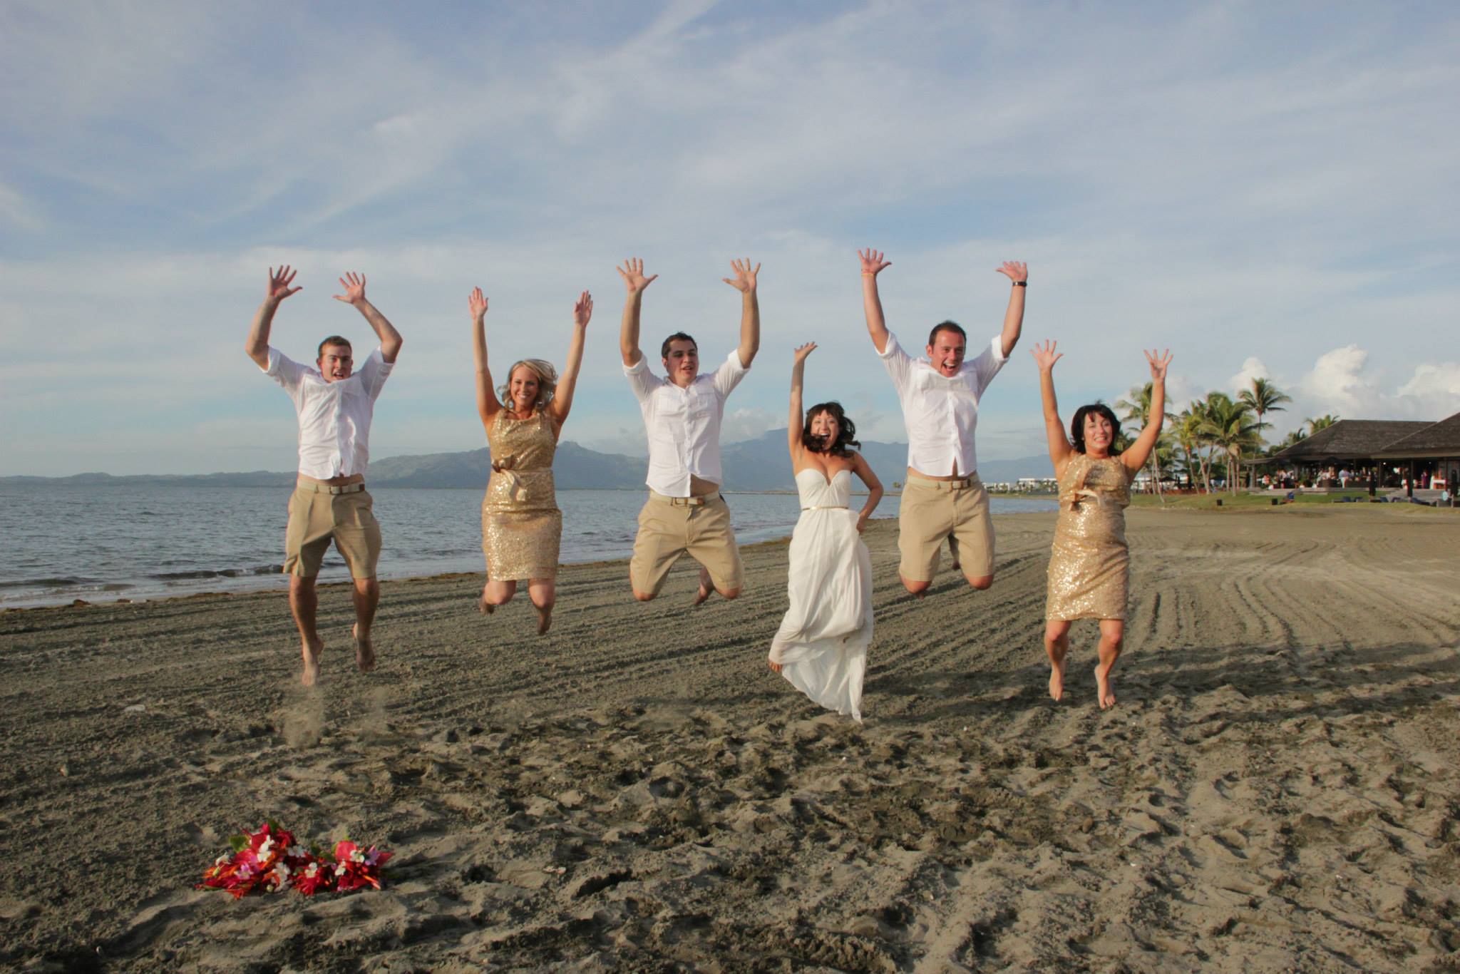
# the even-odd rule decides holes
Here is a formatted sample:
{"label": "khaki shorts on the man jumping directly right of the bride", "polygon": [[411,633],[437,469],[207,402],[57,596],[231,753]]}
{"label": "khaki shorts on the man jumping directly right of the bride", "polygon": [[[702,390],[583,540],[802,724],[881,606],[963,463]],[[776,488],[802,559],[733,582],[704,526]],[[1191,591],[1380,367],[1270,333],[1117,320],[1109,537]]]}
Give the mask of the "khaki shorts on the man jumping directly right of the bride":
{"label": "khaki shorts on the man jumping directly right of the bride", "polygon": [[929,480],[910,473],[898,513],[898,572],[908,581],[931,581],[949,534],[958,540],[965,577],[994,574],[994,523],[988,517],[988,492],[978,478]]}

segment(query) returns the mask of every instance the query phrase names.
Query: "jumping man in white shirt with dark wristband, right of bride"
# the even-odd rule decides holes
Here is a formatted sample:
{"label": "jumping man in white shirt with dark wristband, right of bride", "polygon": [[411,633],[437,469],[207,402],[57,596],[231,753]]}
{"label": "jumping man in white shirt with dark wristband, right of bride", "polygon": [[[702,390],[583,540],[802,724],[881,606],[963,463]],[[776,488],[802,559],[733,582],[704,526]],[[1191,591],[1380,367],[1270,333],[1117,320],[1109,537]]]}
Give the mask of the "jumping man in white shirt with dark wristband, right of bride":
{"label": "jumping man in white shirt with dark wristband, right of bride", "polygon": [[994,526],[988,517],[988,494],[978,480],[974,428],[984,388],[1019,340],[1023,326],[1023,295],[1029,279],[1025,264],[1006,261],[999,273],[1012,282],[1003,330],[971,362],[964,361],[967,336],[953,321],[933,327],[927,358],[912,359],[882,318],[877,275],[891,261],[883,254],[857,251],[861,258],[861,304],[867,333],[882,356],[902,404],[908,431],[907,485],[898,513],[898,574],[902,586],[921,597],[937,572],[943,539],[949,537],[955,564],[974,588],[994,581]]}

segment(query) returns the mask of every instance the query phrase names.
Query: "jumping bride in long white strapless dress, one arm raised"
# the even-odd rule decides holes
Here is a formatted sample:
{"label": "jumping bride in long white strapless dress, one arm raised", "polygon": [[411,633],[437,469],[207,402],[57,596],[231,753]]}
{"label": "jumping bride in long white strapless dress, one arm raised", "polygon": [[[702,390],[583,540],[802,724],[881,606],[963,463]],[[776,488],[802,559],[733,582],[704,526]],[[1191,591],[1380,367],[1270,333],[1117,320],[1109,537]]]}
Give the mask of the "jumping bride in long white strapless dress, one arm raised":
{"label": "jumping bride in long white strapless dress, one arm raised", "polygon": [[[771,669],[826,710],[861,723],[861,680],[872,643],[872,556],[861,529],[882,499],[882,482],[860,453],[857,426],[841,403],[802,412],[806,356],[791,367],[787,444],[802,515],[791,533],[785,590],[791,607],[771,640]],[[867,485],[867,502],[851,513],[851,475]]]}

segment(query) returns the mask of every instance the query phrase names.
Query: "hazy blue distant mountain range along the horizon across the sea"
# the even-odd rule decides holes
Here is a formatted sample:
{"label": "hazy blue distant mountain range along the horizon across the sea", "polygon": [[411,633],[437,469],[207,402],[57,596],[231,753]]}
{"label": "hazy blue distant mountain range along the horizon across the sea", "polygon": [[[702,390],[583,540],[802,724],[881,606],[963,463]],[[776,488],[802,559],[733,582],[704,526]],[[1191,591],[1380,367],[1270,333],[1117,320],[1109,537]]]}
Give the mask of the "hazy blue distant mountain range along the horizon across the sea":
{"label": "hazy blue distant mountain range along the horizon across the sea", "polygon": [[[861,444],[861,454],[886,486],[904,479],[907,469],[905,442]],[[791,463],[785,454],[785,431],[772,429],[755,440],[729,442],[720,451],[727,491],[794,491]],[[553,460],[553,480],[568,489],[644,488],[645,460],[622,453],[599,453],[571,441],[558,445]],[[980,476],[986,483],[1048,476],[1048,457],[1019,460],[986,460]],[[369,464],[371,486],[404,488],[473,488],[486,486],[491,476],[492,453],[488,448],[461,453],[431,453],[410,457],[385,457]],[[250,473],[200,475],[139,475],[77,473],[69,478],[0,478],[0,483],[69,483],[69,485],[212,485],[212,486],[288,486],[295,475],[289,472],[254,470]]]}

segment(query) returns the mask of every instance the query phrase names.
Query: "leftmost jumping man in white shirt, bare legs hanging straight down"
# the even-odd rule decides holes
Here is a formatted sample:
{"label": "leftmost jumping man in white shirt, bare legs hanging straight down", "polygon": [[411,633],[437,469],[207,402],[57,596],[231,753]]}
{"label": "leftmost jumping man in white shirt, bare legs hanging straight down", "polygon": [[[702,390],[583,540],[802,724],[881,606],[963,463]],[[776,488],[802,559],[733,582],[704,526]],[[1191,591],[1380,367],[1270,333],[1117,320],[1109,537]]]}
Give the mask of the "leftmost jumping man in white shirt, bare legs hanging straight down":
{"label": "leftmost jumping man in white shirt, bare legs hanging straight down", "polygon": [[336,301],[353,305],[380,339],[380,348],[356,371],[349,339],[331,334],[320,342],[317,368],[291,361],[269,345],[279,302],[299,291],[291,288],[296,272],[269,269],[269,294],[254,314],[244,350],[293,400],[299,415],[299,479],[289,498],[283,570],[289,572],[289,607],[304,648],[304,685],[320,676],[324,643],[315,629],[318,599],[314,580],[330,542],[345,556],[355,583],[355,663],[361,672],[375,666],[369,628],[380,605],[375,564],[380,561],[380,524],[365,492],[369,461],[369,423],[385,378],[400,353],[400,333],[365,299],[365,276],[340,277],[345,294]]}

